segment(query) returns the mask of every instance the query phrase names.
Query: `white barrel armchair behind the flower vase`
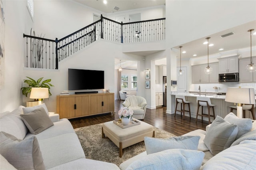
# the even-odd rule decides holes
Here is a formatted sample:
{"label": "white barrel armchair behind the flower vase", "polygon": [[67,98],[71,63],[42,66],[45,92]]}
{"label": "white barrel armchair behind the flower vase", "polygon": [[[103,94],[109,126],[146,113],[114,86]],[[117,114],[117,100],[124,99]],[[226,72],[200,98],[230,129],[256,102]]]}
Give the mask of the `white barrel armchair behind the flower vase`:
{"label": "white barrel armchair behind the flower vase", "polygon": [[132,109],[133,118],[140,120],[144,119],[147,109],[147,101],[143,97],[131,95],[125,99],[122,105]]}

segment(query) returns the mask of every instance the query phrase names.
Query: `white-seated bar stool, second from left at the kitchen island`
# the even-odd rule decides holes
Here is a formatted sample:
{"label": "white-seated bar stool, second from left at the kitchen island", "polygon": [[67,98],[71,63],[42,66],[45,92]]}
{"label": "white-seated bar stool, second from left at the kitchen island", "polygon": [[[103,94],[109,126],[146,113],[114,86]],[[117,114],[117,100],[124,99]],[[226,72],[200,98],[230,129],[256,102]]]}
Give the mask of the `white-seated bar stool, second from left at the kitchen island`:
{"label": "white-seated bar stool, second from left at the kitchen island", "polygon": [[[197,103],[196,122],[197,122],[197,117],[199,115],[199,116],[202,117],[202,122],[203,122],[203,117],[208,117],[209,124],[210,124],[211,123],[211,118],[210,117],[213,117],[215,119],[214,106],[216,106],[216,105],[213,105],[211,103],[211,100],[210,100],[209,97],[196,97],[196,103]],[[201,115],[198,114],[200,106],[202,106]],[[203,113],[204,107],[208,108],[208,114]],[[212,108],[213,115],[210,114],[210,108]]]}

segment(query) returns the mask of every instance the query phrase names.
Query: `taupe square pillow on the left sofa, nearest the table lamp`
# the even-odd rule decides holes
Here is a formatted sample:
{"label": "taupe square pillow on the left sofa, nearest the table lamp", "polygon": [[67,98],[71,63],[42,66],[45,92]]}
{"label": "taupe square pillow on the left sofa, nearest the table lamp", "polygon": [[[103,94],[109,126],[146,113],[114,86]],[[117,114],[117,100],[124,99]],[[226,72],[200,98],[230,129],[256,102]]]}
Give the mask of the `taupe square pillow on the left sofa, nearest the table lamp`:
{"label": "taupe square pillow on the left sofa, nearest the table lamp", "polygon": [[38,134],[54,125],[42,107],[30,113],[22,114],[20,117],[32,134]]}

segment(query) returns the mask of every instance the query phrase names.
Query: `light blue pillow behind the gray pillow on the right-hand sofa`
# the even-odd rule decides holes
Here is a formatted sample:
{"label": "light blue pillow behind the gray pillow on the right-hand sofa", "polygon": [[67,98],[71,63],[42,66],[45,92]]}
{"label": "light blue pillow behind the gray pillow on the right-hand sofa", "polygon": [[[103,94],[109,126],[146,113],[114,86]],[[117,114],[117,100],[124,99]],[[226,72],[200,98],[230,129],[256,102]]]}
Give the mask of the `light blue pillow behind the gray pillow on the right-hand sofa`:
{"label": "light blue pillow behind the gray pillow on the right-hand sofa", "polygon": [[246,134],[252,129],[252,119],[246,119],[246,118],[238,118],[234,113],[229,113],[224,118],[225,121],[228,121],[229,123],[234,123],[237,125],[238,132],[236,139],[240,138],[243,134]]}

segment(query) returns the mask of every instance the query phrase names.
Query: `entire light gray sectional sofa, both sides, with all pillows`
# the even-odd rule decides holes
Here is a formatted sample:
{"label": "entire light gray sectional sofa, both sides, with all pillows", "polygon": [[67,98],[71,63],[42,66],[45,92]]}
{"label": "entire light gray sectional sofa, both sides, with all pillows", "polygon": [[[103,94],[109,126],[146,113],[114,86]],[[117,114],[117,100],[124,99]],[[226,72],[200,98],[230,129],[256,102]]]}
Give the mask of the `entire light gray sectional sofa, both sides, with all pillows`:
{"label": "entire light gray sectional sofa, both sides, with all pillows", "polygon": [[[120,166],[86,159],[68,119],[48,115],[46,106],[20,106],[0,114],[0,169],[49,170],[253,170],[256,122],[233,113],[216,117],[205,130],[170,139],[145,137],[146,151]],[[161,147],[160,147],[161,146]]]}

